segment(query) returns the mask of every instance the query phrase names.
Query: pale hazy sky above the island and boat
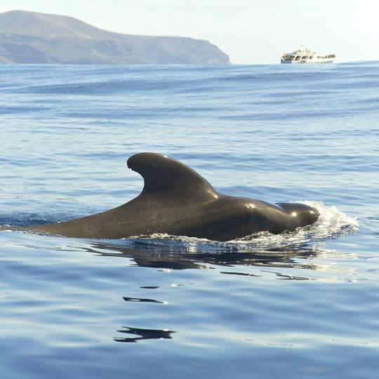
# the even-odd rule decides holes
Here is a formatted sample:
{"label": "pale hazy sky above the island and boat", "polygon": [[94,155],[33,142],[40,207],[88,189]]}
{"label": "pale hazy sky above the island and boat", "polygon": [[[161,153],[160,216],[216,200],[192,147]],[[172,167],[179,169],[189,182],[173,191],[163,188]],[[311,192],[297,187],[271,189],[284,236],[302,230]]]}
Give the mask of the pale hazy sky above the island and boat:
{"label": "pale hazy sky above the island and boat", "polygon": [[275,63],[305,45],[338,61],[379,60],[379,0],[0,0],[112,32],[208,39],[232,63]]}

